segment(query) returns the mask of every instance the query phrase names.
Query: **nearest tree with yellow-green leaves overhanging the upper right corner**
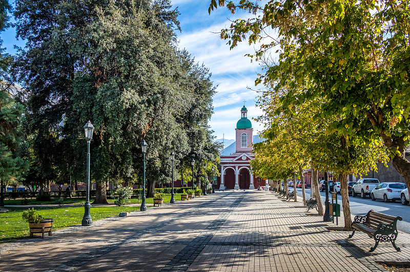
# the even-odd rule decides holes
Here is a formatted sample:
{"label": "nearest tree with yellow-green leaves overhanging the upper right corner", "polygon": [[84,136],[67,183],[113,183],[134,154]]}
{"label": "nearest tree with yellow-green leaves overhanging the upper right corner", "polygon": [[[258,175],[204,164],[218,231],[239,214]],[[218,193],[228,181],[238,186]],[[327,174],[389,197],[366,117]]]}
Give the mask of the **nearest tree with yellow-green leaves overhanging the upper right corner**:
{"label": "nearest tree with yellow-green leaves overhanging the upper right corner", "polygon": [[[267,60],[271,48],[280,48],[278,61],[256,83],[275,82],[275,89],[287,86],[285,107],[320,98],[323,103],[315,118],[337,116],[327,130],[337,133],[346,147],[377,145],[381,138],[410,186],[410,162],[405,159],[410,125],[407,1],[300,0],[259,7],[252,1],[212,0],[209,11],[225,4],[232,12],[253,14],[222,30],[231,48],[246,37],[250,44],[263,42],[268,28],[278,33],[250,54]],[[303,92],[298,91],[301,86]]]}

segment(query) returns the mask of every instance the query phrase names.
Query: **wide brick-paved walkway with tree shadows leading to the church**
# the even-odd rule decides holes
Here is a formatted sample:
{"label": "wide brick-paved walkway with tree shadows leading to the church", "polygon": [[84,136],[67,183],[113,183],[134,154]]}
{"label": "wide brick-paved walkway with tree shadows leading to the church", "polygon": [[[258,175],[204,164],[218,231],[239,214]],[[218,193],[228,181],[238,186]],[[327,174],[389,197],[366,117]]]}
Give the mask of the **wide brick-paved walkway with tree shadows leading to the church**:
{"label": "wide brick-paved walkway with tree shadows leading to the church", "polygon": [[272,192],[217,192],[1,244],[0,270],[385,271],[376,261],[410,259],[410,235],[399,253],[381,243],[370,254],[373,239],[329,232],[306,210]]}

